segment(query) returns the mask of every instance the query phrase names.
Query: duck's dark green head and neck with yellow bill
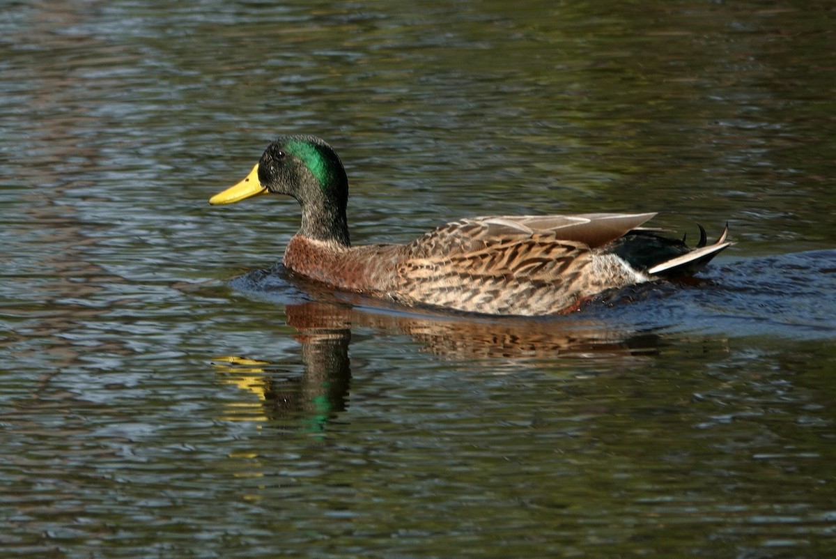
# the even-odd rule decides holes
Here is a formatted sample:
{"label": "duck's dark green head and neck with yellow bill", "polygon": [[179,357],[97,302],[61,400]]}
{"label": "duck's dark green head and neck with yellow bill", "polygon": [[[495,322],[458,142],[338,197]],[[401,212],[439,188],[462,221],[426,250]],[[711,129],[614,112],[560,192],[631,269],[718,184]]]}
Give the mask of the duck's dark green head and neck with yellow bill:
{"label": "duck's dark green head and neck with yellow bill", "polygon": [[209,199],[212,205],[260,194],[287,194],[302,206],[299,234],[349,244],[345,207],[349,181],[334,149],[314,136],[282,136],[247,177]]}

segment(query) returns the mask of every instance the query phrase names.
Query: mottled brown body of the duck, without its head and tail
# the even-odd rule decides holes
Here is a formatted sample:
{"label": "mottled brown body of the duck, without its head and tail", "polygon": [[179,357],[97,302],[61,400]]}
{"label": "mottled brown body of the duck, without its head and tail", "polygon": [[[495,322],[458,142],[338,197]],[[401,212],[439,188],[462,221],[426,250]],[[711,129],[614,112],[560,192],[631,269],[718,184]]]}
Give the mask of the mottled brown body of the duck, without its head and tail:
{"label": "mottled brown body of the duck, without its head and tail", "polygon": [[492,315],[558,314],[601,291],[650,280],[605,249],[513,219],[463,219],[410,244],[346,247],[296,235],[283,264],[341,290]]}

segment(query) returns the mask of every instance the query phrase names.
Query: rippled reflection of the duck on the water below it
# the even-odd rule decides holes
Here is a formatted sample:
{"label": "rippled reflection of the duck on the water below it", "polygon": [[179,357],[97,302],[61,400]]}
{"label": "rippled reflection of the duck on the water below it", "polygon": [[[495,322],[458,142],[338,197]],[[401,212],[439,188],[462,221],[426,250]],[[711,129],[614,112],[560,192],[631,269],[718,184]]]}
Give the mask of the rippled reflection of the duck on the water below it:
{"label": "rippled reflection of the duck on the water below it", "polygon": [[[252,274],[252,273],[251,273]],[[295,282],[293,282],[295,283]],[[287,287],[287,284],[284,285]],[[658,337],[604,326],[577,315],[531,318],[485,318],[474,315],[416,314],[414,310],[370,308],[369,301],[351,295],[318,292],[318,300],[288,303],[284,310],[293,338],[301,346],[303,374],[298,367],[249,357],[216,359],[225,382],[254,392],[258,403],[227,408],[227,419],[299,420],[324,428],[346,409],[351,381],[349,345],[352,328],[371,328],[380,336],[410,336],[421,347],[453,361],[491,362],[497,372],[517,370],[524,362],[548,360],[578,364],[614,359],[637,359],[656,351]],[[263,292],[259,293],[263,299]],[[277,301],[279,302],[279,301]]]}

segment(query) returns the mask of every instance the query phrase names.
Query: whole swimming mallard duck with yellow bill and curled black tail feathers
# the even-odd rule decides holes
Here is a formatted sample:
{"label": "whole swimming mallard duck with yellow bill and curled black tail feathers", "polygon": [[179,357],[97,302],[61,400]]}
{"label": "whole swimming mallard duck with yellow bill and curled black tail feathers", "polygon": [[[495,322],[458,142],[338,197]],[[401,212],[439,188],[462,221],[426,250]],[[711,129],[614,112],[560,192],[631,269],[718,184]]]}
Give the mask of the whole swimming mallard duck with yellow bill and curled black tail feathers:
{"label": "whole swimming mallard duck with yellow bill and curled black tail feathers", "polygon": [[353,246],[349,182],[334,149],[314,136],[273,141],[241,182],[209,200],[287,194],[302,223],[284,252],[288,270],[339,290],[491,315],[556,315],[605,290],[696,273],[731,243],[696,248],[640,228],[655,213],[490,216],[446,223],[408,244]]}

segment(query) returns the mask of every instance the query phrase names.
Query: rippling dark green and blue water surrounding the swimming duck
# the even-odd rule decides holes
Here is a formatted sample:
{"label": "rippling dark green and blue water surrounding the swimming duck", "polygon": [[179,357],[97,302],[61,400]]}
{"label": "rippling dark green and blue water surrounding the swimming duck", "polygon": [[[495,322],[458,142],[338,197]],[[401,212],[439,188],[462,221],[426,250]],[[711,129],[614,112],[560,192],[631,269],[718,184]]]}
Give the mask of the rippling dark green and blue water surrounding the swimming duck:
{"label": "rippling dark green and blue water surrounding the swimming duck", "polygon": [[[828,556],[833,10],[11,3],[0,18],[0,556]],[[538,320],[300,284],[323,136],[355,243],[660,211],[697,285]]]}

